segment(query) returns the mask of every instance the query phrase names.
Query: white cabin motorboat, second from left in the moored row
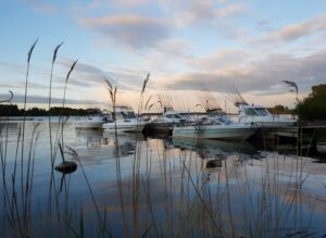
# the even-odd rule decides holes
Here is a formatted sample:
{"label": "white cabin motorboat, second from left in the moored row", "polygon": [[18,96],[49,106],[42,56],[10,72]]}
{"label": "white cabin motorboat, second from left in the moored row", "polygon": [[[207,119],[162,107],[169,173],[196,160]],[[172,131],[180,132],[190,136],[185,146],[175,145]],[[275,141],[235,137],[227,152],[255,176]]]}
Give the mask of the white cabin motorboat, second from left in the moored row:
{"label": "white cabin motorboat, second from left in the moored row", "polygon": [[141,133],[146,122],[137,117],[134,110],[125,105],[114,107],[113,122],[105,123],[103,128],[115,131]]}

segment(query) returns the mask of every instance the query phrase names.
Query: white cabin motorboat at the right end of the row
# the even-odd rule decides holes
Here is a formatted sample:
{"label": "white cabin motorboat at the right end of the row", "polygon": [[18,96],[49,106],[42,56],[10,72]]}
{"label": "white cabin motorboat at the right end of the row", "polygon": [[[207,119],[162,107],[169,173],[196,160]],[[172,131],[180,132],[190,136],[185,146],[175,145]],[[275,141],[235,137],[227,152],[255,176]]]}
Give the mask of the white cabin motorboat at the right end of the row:
{"label": "white cabin motorboat at the right end of the row", "polygon": [[239,123],[260,125],[264,128],[278,128],[296,125],[294,118],[280,115],[272,115],[262,105],[238,104]]}

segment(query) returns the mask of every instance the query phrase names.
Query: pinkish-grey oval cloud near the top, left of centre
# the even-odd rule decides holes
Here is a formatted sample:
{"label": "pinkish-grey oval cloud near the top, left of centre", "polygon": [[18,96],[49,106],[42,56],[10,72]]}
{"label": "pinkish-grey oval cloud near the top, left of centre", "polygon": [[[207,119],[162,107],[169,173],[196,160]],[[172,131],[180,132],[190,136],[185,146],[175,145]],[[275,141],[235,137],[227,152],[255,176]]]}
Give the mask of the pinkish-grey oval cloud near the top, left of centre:
{"label": "pinkish-grey oval cloud near the top, left of centre", "polygon": [[82,17],[79,23],[115,43],[124,43],[133,49],[153,47],[170,36],[171,27],[168,20],[137,14]]}

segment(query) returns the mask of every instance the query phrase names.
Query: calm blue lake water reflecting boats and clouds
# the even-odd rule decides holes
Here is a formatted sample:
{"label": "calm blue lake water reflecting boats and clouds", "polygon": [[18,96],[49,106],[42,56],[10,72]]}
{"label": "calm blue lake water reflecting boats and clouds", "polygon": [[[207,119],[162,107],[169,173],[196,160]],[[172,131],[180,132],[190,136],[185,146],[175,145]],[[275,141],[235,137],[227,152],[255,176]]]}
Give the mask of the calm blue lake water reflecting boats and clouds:
{"label": "calm blue lake water reflecting boats and clouds", "polygon": [[298,156],[296,145],[116,137],[73,122],[61,136],[52,123],[54,165],[55,138],[78,165],[63,175],[51,166],[48,123],[26,122],[23,149],[21,126],[1,126],[3,237],[326,234],[326,164]]}

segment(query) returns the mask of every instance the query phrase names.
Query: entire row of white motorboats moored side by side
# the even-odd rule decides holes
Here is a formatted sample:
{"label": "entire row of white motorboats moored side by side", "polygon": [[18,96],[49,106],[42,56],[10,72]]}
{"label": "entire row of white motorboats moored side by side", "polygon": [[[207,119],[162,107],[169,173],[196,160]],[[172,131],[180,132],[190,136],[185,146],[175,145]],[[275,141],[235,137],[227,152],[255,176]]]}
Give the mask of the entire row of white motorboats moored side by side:
{"label": "entire row of white motorboats moored side by side", "polygon": [[233,122],[225,113],[186,120],[172,108],[164,108],[161,116],[145,121],[129,107],[114,107],[112,117],[88,116],[76,122],[76,128],[103,128],[109,131],[172,131],[176,138],[244,140],[261,127],[278,128],[294,125],[294,120],[273,116],[264,107],[239,104],[239,121]]}

